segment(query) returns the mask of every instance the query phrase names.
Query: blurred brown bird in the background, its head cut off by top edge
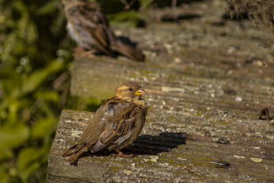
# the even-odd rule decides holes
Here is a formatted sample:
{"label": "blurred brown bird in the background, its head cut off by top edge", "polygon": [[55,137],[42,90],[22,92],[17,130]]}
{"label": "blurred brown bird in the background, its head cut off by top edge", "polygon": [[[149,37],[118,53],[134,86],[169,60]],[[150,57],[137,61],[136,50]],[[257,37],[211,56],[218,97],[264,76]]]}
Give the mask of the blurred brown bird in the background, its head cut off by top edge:
{"label": "blurred brown bird in the background, its head cut off by top edge", "polygon": [[140,49],[114,36],[97,3],[81,0],[62,0],[62,3],[69,35],[79,47],[112,57],[118,52],[133,60],[145,59]]}

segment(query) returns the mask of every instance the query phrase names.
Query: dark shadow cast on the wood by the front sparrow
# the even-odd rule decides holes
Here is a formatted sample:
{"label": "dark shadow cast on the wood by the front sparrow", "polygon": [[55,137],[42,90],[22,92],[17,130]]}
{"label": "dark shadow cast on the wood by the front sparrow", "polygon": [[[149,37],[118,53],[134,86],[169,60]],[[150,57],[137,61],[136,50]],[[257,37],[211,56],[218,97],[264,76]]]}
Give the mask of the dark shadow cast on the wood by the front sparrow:
{"label": "dark shadow cast on the wood by the front sparrow", "polygon": [[[186,133],[171,133],[171,132],[162,132],[158,136],[152,135],[141,135],[138,136],[136,141],[125,147],[121,151],[124,154],[135,154],[135,155],[157,155],[162,152],[169,152],[171,149],[177,148],[179,145],[186,144]],[[110,156],[114,154],[114,151],[101,150],[97,153],[90,153],[90,151],[82,154],[80,158],[87,156]],[[78,159],[78,160],[79,160]],[[73,163],[77,165],[77,161]]]}

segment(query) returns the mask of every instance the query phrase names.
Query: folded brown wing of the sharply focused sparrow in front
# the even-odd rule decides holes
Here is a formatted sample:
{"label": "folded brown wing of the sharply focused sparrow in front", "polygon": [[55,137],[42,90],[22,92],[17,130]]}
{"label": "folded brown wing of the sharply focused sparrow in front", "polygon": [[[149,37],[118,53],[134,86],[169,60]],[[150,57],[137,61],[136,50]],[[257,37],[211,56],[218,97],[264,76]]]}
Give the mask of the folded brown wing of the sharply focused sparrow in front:
{"label": "folded brown wing of the sharply focused sparrow in front", "polygon": [[[112,103],[108,105],[112,106]],[[92,147],[92,151],[99,151],[119,136],[132,130],[136,117],[132,116],[131,113],[136,107],[133,102],[115,103],[112,119],[109,119],[107,127],[99,136],[99,141]]]}

